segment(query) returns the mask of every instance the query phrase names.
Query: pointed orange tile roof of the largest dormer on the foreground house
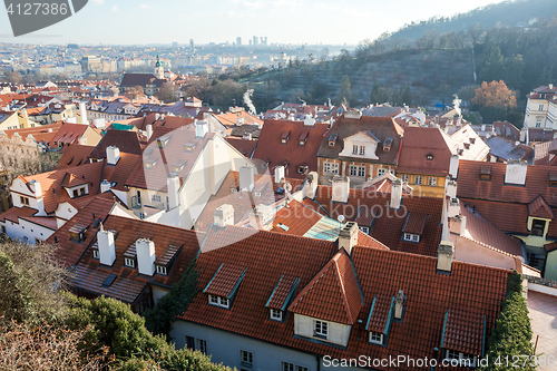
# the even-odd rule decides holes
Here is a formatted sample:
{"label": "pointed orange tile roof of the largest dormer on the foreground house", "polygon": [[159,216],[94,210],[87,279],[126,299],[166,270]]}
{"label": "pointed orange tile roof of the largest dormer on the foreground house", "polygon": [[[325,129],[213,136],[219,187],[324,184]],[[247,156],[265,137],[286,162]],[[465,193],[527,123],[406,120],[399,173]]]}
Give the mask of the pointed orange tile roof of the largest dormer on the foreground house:
{"label": "pointed orange tile roof of the largest dormer on the foreground house", "polygon": [[342,248],[297,294],[289,311],[352,325],[363,304],[352,262]]}

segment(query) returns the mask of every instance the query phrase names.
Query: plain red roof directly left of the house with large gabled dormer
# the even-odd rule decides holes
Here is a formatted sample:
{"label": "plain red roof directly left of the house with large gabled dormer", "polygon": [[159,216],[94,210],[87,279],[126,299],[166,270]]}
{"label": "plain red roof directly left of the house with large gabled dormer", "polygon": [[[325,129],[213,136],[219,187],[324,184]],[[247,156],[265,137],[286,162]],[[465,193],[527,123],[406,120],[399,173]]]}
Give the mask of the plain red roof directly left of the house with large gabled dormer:
{"label": "plain red roof directly left of the house with large gabled dormer", "polygon": [[[305,174],[297,174],[297,167],[302,165],[309,166],[309,172],[317,170],[317,150],[328,128],[326,124],[304,126],[303,121],[267,119],[261,130],[253,158],[268,162],[268,168],[287,165],[287,177],[303,179]],[[287,143],[281,144],[281,137],[289,133]],[[303,146],[299,144],[302,133],[307,133]]]}

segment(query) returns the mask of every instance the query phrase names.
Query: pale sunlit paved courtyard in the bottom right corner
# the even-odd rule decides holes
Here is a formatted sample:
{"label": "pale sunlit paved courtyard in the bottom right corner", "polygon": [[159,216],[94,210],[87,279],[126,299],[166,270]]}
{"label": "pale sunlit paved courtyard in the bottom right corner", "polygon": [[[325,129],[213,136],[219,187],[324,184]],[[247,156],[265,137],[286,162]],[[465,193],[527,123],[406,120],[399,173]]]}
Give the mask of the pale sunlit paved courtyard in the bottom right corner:
{"label": "pale sunlit paved courtyard in the bottom right corner", "polygon": [[557,371],[557,296],[528,291],[528,310],[530,311],[534,342],[537,335],[536,354],[554,357],[556,365],[539,367],[537,370]]}

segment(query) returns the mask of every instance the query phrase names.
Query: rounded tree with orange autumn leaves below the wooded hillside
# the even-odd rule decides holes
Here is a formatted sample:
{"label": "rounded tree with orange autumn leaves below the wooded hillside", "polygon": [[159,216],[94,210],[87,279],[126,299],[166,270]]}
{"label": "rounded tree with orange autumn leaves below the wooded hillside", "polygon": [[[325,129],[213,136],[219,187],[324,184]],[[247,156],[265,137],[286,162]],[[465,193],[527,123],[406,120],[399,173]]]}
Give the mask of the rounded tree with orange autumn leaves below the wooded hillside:
{"label": "rounded tree with orange autumn leaves below the wooded hillside", "polygon": [[481,82],[475,90],[472,105],[483,116],[483,121],[502,120],[509,110],[517,108],[517,96],[504,80]]}

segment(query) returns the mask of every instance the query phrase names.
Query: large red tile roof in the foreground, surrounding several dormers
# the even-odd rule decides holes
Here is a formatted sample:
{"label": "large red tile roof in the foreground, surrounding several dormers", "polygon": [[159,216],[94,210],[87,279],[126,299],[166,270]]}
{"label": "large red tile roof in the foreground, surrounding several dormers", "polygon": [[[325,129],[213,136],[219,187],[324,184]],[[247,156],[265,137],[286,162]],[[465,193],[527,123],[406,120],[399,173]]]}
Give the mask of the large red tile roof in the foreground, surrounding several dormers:
{"label": "large red tile roof in the foreground, surrounding several dormers", "polygon": [[[226,241],[236,242],[223,246]],[[344,270],[344,274],[350,274],[352,266],[345,253],[340,254],[343,255],[342,258],[336,254],[335,243],[319,240],[262,231],[250,234],[250,231],[233,226],[211,232],[197,260],[201,267],[199,285],[206,286],[223,263],[245,266],[245,276],[229,309],[208,305],[206,294],[198,293],[179,318],[310,354],[330,354],[332,358],[358,358],[365,354],[372,359],[399,354],[434,358],[433,348],[440,346],[447,310],[458,309],[472,318],[486,315],[487,336],[491,334],[500,312],[500,302],[505,297],[507,275],[510,273],[506,270],[455,262],[450,275],[438,274],[434,257],[356,246],[352,252],[355,272],[353,277],[360,283],[365,304],[359,309],[356,319],[362,322],[354,323],[345,349],[294,336],[294,315],[286,315],[284,322],[270,320],[265,305],[283,275],[300,277],[300,292],[304,291],[310,295],[310,283],[315,281],[317,274],[326,274],[326,282],[332,287],[325,287],[324,284],[320,287],[321,283],[315,283],[317,286],[314,286],[314,290],[324,294],[319,301],[322,305],[313,301],[314,305],[307,313],[316,319],[341,315],[339,311],[330,311],[330,302],[340,304],[340,313],[346,313],[344,301],[336,299],[343,294],[338,289],[340,281],[336,276],[340,273],[335,272],[336,267],[333,266],[336,263],[333,264],[331,260],[334,256],[336,262],[343,261],[344,267],[340,270]],[[324,266],[330,270],[322,272]],[[348,304],[349,313],[355,315],[360,305],[352,301],[358,299],[358,295],[354,294],[355,287],[353,281],[351,282],[349,285],[353,289],[345,293],[351,297]],[[348,281],[344,284],[346,283]],[[399,290],[402,290],[408,299],[403,321],[392,323],[387,346],[367,342],[367,334],[362,336],[362,331],[373,299],[378,296],[378,300],[388,301]],[[355,305],[356,310],[352,311],[352,305]],[[378,304],[378,307],[380,306]],[[342,314],[343,318],[348,315]],[[468,318],[458,315],[452,321],[456,329],[469,322]],[[472,330],[475,333],[476,328]],[[466,351],[467,348],[458,345],[456,350]]]}

